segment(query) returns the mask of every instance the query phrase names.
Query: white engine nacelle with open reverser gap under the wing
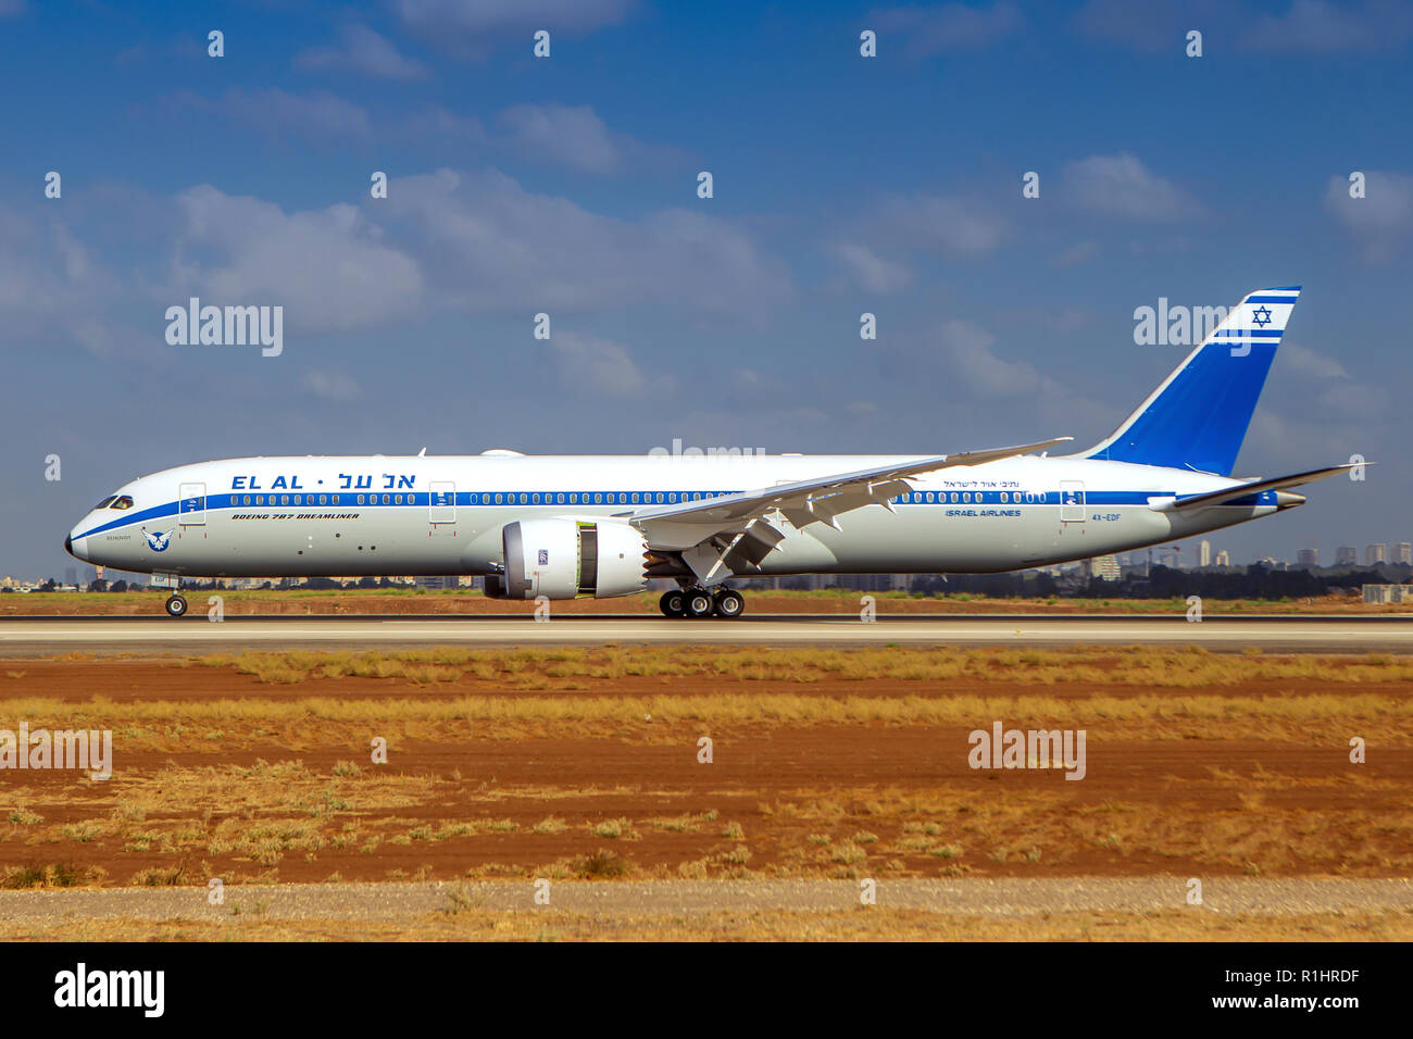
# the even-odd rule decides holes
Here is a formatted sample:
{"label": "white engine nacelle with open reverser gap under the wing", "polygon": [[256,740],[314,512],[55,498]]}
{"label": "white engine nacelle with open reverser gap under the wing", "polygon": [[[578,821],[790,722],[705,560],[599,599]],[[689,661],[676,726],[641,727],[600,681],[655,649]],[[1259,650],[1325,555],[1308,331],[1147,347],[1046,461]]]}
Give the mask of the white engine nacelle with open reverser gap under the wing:
{"label": "white engine nacelle with open reverser gap under the wing", "polygon": [[[616,520],[516,520],[502,532],[504,598],[596,599],[633,595],[647,587],[647,541]],[[499,589],[497,589],[499,591]],[[499,598],[499,597],[497,597]]]}

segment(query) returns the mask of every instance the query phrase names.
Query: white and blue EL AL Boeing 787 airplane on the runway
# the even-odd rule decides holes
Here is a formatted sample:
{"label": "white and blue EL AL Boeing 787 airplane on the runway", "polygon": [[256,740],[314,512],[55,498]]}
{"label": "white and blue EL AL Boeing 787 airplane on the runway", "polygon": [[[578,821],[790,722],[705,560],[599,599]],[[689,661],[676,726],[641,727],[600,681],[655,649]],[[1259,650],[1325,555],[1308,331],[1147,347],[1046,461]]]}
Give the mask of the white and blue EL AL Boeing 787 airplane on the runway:
{"label": "white and blue EL AL Boeing 787 airplane on the runway", "polygon": [[1191,537],[1304,503],[1352,468],[1231,475],[1299,286],[1241,301],[1106,438],[942,455],[480,455],[233,458],[143,476],[64,541],[153,574],[187,614],[188,577],[473,574],[486,595],[571,599],[677,588],[674,618],[738,618],[735,578],[976,574]]}

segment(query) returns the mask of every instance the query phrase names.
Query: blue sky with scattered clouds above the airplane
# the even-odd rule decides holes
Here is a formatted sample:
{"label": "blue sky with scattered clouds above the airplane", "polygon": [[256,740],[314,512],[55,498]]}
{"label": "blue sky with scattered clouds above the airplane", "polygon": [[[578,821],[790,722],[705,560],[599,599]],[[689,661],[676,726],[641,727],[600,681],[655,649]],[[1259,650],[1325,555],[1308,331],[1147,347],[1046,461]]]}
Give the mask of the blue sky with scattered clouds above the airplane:
{"label": "blue sky with scattered clouds above the airplane", "polygon": [[[1214,546],[1413,540],[1410,38],[1382,0],[0,0],[0,570],[215,457],[1088,444],[1181,358],[1135,308],[1282,284],[1238,472],[1378,465]],[[283,305],[283,355],[168,345],[189,295]]]}

